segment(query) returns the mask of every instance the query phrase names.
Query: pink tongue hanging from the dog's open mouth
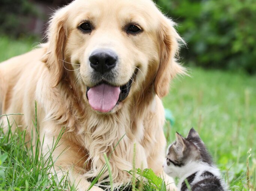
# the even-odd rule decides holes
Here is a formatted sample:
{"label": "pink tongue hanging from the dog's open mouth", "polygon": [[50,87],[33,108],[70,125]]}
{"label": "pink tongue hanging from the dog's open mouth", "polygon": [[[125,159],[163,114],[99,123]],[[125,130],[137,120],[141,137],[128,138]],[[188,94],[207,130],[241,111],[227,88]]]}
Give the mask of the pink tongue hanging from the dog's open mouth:
{"label": "pink tongue hanging from the dog's open mouth", "polygon": [[90,88],[87,93],[90,106],[99,112],[110,112],[117,104],[120,94],[120,87],[112,87],[107,84],[100,84]]}

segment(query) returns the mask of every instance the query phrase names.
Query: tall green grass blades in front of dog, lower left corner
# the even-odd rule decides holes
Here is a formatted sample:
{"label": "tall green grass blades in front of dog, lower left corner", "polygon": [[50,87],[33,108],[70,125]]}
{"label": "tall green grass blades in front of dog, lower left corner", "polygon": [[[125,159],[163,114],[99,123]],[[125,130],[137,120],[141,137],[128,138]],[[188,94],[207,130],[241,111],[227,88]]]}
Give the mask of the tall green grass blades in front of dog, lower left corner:
{"label": "tall green grass blades in front of dog, lower left corner", "polygon": [[[9,118],[10,115],[3,117]],[[33,131],[36,131],[37,119],[33,120],[33,125]],[[8,126],[10,129],[11,125]],[[0,128],[0,191],[65,191],[68,187],[75,190],[66,177],[58,181],[57,175],[52,173],[49,178],[49,171],[54,170],[52,152],[58,147],[63,132],[55,140],[53,147],[42,155],[40,151],[44,140],[39,140],[37,131],[36,136],[26,143],[26,131],[21,132],[17,128],[14,133],[9,131],[3,134],[3,129]],[[31,146],[26,147],[28,144]]]}

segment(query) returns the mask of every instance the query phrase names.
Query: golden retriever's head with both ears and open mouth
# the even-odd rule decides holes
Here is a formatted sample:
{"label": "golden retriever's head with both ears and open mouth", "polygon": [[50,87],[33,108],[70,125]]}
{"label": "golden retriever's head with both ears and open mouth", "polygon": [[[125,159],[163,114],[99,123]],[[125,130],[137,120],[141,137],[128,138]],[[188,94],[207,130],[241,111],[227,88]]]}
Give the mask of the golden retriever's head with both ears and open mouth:
{"label": "golden retriever's head with both ears and open mouth", "polygon": [[145,87],[163,97],[184,72],[181,38],[151,0],[75,0],[54,14],[48,40],[53,86],[72,76],[97,112],[117,111]]}

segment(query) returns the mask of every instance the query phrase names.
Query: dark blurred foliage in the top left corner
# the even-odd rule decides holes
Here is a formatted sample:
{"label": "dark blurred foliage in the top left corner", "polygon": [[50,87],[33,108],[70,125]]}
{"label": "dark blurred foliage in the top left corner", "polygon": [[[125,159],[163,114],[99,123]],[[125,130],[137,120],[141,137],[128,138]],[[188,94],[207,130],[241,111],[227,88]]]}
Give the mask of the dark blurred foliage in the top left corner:
{"label": "dark blurred foliage in the top left corner", "polygon": [[18,37],[28,33],[31,16],[38,16],[37,9],[28,0],[1,0],[0,33]]}

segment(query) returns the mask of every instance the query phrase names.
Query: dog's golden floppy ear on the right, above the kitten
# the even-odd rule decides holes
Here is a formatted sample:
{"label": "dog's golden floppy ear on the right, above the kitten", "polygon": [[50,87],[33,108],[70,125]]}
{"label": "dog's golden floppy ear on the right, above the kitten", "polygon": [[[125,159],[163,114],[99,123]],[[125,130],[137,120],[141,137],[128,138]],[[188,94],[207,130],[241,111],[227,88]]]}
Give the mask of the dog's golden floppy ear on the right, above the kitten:
{"label": "dog's golden floppy ear on the right, above the kitten", "polygon": [[169,83],[177,74],[185,74],[186,70],[177,63],[179,43],[183,41],[174,29],[174,23],[168,18],[162,18],[158,29],[159,38],[159,68],[156,74],[154,89],[159,97],[169,92]]}

